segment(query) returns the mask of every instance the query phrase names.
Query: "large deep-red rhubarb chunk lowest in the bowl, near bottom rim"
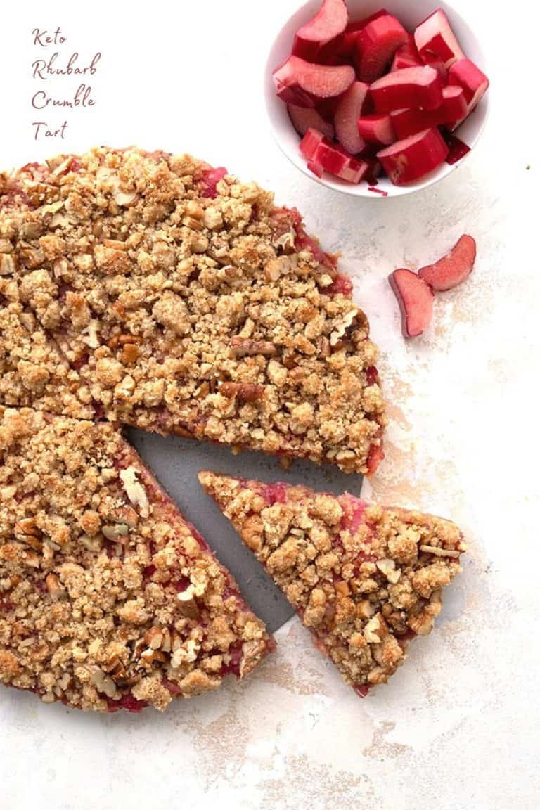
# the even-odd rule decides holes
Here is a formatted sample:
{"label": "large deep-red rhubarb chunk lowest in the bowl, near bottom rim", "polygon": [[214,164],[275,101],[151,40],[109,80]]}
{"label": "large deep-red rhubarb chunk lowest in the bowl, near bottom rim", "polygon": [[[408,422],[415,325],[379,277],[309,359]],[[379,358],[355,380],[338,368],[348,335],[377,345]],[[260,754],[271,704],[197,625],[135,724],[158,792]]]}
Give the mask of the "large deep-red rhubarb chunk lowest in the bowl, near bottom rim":
{"label": "large deep-red rhubarb chunk lowest in the bowl, near bottom rim", "polygon": [[444,162],[449,147],[436,128],[410,135],[377,152],[377,157],[394,185],[418,180]]}

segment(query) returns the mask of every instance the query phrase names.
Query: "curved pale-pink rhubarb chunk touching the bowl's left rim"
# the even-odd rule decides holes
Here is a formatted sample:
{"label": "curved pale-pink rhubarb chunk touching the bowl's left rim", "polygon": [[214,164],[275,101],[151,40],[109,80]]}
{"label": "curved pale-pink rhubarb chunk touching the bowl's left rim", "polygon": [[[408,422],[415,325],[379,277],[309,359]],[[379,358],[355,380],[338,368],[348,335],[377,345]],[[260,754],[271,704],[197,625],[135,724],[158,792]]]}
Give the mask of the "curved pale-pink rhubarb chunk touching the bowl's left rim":
{"label": "curved pale-pink rhubarb chunk touching the bowl's left rim", "polygon": [[355,80],[350,65],[312,65],[291,56],[274,70],[274,85],[279,98],[287,104],[314,107],[317,99],[341,96]]}

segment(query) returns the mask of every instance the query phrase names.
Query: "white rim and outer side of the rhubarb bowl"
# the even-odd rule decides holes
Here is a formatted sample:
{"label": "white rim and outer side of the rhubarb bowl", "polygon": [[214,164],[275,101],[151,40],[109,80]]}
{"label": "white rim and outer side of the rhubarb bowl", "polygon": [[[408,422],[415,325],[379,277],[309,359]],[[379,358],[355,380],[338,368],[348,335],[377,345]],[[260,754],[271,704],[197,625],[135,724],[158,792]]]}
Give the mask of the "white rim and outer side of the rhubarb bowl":
{"label": "white rim and outer side of the rhubarb bowl", "polygon": [[[347,2],[347,0],[346,0]],[[381,0],[382,2],[382,0]],[[460,160],[457,160],[454,164],[446,164],[444,167],[444,171],[440,171],[440,167],[437,167],[433,170],[432,173],[427,174],[425,177],[420,178],[419,181],[414,183],[410,183],[408,185],[393,185],[391,181],[385,185],[385,188],[388,189],[387,193],[383,193],[385,189],[377,190],[378,184],[376,185],[367,185],[364,182],[360,182],[358,184],[355,183],[347,183],[347,181],[342,181],[338,177],[332,177],[325,173],[323,177],[317,177],[313,172],[311,172],[308,168],[307,162],[303,159],[300,159],[300,151],[297,152],[296,155],[291,154],[291,149],[288,147],[285,139],[280,137],[280,128],[277,126],[276,122],[274,121],[274,117],[279,114],[275,113],[274,111],[279,110],[280,107],[283,109],[287,108],[287,104],[279,99],[276,96],[274,91],[274,83],[272,82],[272,71],[275,70],[275,67],[279,60],[277,60],[274,56],[274,51],[278,49],[279,42],[283,36],[284,29],[288,28],[291,25],[292,20],[296,20],[296,23],[302,24],[302,17],[305,17],[304,21],[307,19],[311,19],[313,16],[313,11],[316,10],[317,6],[320,6],[321,0],[306,0],[306,2],[302,3],[301,6],[298,6],[296,11],[294,11],[287,20],[280,26],[279,30],[275,32],[273,38],[271,39],[270,50],[266,58],[265,62],[265,72],[264,72],[264,81],[263,81],[263,89],[265,94],[265,108],[266,108],[266,115],[270,120],[270,129],[272,131],[272,137],[274,141],[277,143],[280,151],[282,151],[283,155],[287,157],[287,160],[295,166],[295,168],[299,169],[306,177],[310,180],[317,182],[318,185],[323,186],[324,188],[330,189],[332,191],[338,191],[339,194],[346,194],[348,197],[356,197],[361,199],[371,199],[371,200],[383,200],[383,199],[391,199],[391,198],[398,198],[404,197],[407,194],[414,194],[416,191],[421,191],[431,187],[432,185],[437,185],[440,181],[444,180],[445,177],[449,177],[453,172],[456,171],[457,168],[460,168],[462,164],[464,164],[467,158],[470,156],[471,152],[478,145],[478,141],[480,140],[483,131],[485,130],[487,119],[490,113],[490,104],[488,101],[489,93],[486,93],[483,98],[479,101],[478,106],[474,109],[470,116],[467,117],[466,121],[463,122],[463,125],[466,125],[468,122],[469,124],[474,124],[474,133],[470,135],[470,137],[466,140],[467,146],[470,147],[470,150],[461,157]],[[389,8],[389,13],[392,13],[392,0],[389,0],[387,3]],[[410,3],[411,11],[414,11],[414,3]],[[474,44],[477,47],[477,52],[475,54],[474,62],[481,67],[481,69],[487,73],[486,67],[486,57],[483,51],[482,46],[480,45],[474,30],[470,27],[469,23],[466,22],[463,15],[459,11],[456,11],[454,7],[448,2],[448,0],[435,0],[434,2],[433,11],[436,11],[438,8],[442,8],[442,10],[447,14],[451,15],[451,19],[457,19],[459,23],[459,28],[465,28],[468,35],[472,37],[474,40]],[[386,7],[386,6],[385,6]],[[308,16],[309,15],[309,16]],[[298,19],[300,18],[300,19]],[[425,17],[423,18],[425,19]],[[295,24],[296,24],[295,23]],[[475,114],[476,113],[476,114]],[[287,115],[287,113],[285,113]],[[473,118],[474,116],[474,118]],[[472,120],[471,120],[472,119]],[[296,133],[292,123],[290,122],[291,130]],[[300,143],[300,135],[296,133],[297,137],[299,138]],[[459,136],[458,136],[459,137]]]}

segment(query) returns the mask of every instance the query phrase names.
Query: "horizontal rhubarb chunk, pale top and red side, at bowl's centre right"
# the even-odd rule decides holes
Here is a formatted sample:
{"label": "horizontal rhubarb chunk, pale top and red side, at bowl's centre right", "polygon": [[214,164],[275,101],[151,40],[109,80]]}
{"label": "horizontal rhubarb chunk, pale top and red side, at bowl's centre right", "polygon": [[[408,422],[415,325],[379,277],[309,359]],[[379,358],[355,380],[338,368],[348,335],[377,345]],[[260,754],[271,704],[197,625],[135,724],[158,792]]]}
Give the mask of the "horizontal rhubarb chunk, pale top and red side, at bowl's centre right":
{"label": "horizontal rhubarb chunk, pale top and red side, at bowl's centre right", "polygon": [[438,71],[430,65],[394,70],[373,82],[369,89],[377,113],[409,107],[436,109],[443,101],[443,83]]}

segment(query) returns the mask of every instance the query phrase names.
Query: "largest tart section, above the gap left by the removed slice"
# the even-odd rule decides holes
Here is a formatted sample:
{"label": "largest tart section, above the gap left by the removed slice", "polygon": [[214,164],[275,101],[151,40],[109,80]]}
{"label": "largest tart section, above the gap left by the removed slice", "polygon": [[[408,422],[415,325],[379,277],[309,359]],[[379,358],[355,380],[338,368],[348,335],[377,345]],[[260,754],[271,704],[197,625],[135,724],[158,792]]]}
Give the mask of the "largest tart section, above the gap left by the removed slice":
{"label": "largest tart section, above the gap left by the removed slice", "polygon": [[143,430],[347,472],[382,458],[376,347],[351,281],[298,211],[223,168],[100,148],[2,174],[0,277],[62,351],[66,384],[79,375],[57,412],[76,416],[73,392],[81,415]]}

